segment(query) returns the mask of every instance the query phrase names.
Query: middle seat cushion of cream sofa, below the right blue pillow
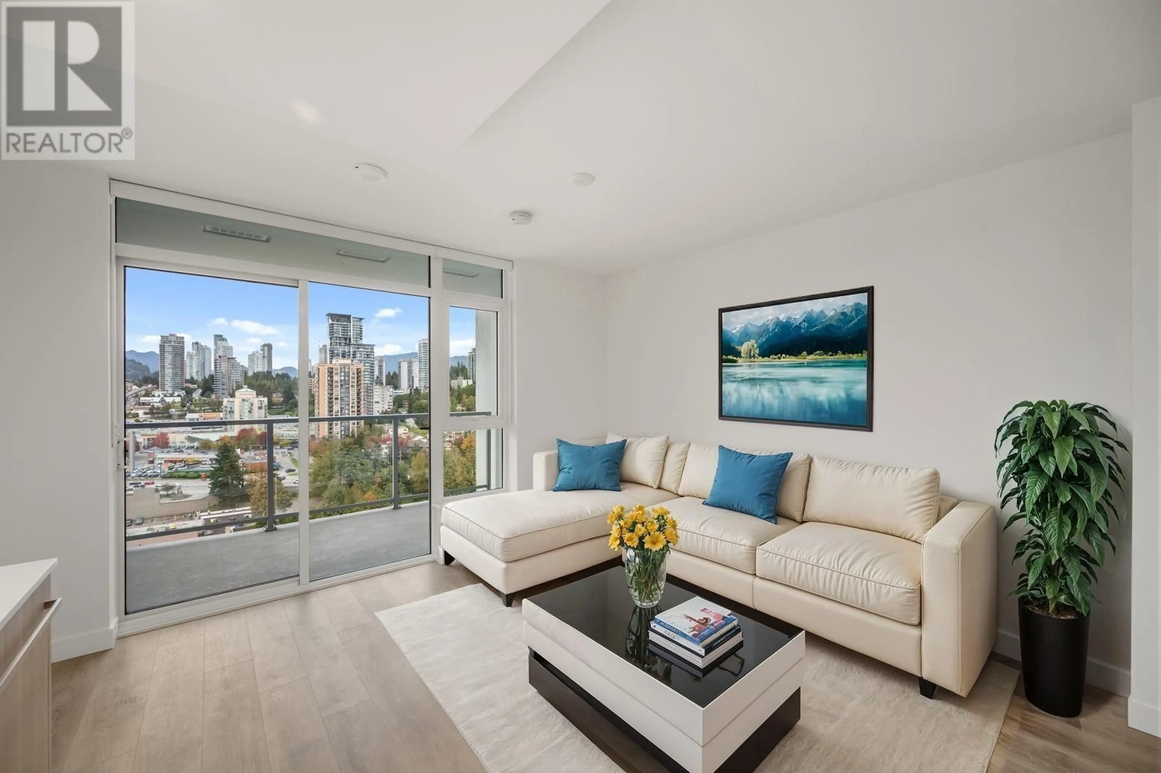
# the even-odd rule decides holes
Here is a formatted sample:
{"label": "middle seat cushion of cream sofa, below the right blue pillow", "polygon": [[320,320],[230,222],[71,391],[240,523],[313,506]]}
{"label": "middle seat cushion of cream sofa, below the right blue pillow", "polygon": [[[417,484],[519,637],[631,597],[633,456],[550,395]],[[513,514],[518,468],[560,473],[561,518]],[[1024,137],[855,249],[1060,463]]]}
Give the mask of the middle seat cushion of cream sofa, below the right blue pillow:
{"label": "middle seat cushion of cream sofa, below the right blue pillow", "polygon": [[749,575],[753,573],[759,544],[798,527],[791,520],[774,523],[733,510],[709,507],[697,497],[675,499],[665,503],[665,507],[677,519],[677,550]]}

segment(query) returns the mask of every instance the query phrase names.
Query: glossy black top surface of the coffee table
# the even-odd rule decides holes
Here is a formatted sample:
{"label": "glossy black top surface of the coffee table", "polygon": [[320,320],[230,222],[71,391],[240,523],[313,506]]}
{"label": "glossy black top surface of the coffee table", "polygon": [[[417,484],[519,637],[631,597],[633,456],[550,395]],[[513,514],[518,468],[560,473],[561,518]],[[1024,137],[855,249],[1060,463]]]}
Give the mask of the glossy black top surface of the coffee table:
{"label": "glossy black top surface of the coffee table", "polygon": [[[722,599],[720,606],[730,609],[742,628],[740,646],[705,671],[676,655],[659,655],[662,650],[649,643],[650,621],[657,613],[695,595],[716,601],[708,592],[699,592],[670,577],[661,604],[641,609],[629,598],[625,568],[613,566],[531,597],[529,601],[701,707],[712,703],[801,633],[789,623]],[[760,616],[762,621],[748,613]]]}

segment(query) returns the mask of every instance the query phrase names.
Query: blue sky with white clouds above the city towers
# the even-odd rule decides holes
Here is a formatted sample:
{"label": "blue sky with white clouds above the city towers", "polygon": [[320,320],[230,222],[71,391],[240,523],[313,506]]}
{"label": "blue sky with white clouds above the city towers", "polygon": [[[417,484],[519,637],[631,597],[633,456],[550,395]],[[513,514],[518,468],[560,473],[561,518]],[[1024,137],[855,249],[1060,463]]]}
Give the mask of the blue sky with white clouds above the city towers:
{"label": "blue sky with white clouds above the city towers", "polygon": [[[363,341],[378,354],[414,352],[427,337],[428,299],[398,292],[380,292],[334,284],[310,286],[310,359],[326,342],[326,315],[363,317]],[[214,334],[225,335],[235,356],[246,355],[261,344],[274,345],[274,367],[297,367],[297,289],[260,282],[243,282],[193,274],[142,268],[125,269],[125,349],[156,352],[165,333],[210,345]],[[475,313],[453,309],[452,355],[463,355],[475,346]]]}

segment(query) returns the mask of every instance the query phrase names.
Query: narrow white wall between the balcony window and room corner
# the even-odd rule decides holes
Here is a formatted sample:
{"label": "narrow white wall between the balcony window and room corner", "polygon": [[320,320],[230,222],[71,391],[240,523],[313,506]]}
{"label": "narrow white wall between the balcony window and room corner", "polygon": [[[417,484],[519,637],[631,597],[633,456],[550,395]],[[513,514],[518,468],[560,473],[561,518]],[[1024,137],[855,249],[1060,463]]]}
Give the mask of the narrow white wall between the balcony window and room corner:
{"label": "narrow white wall between the balcony window and room corner", "polygon": [[515,485],[532,485],[532,455],[556,439],[605,434],[603,279],[541,262],[513,270]]}

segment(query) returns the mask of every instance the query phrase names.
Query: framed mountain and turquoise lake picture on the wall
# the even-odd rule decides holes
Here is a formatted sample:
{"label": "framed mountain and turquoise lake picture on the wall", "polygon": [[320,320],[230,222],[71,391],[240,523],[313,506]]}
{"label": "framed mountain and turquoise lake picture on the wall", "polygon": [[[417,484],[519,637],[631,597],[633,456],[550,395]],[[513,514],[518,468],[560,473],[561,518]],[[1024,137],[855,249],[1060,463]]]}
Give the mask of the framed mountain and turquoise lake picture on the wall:
{"label": "framed mountain and turquoise lake picture on the wall", "polygon": [[719,311],[719,416],[871,429],[874,288]]}

